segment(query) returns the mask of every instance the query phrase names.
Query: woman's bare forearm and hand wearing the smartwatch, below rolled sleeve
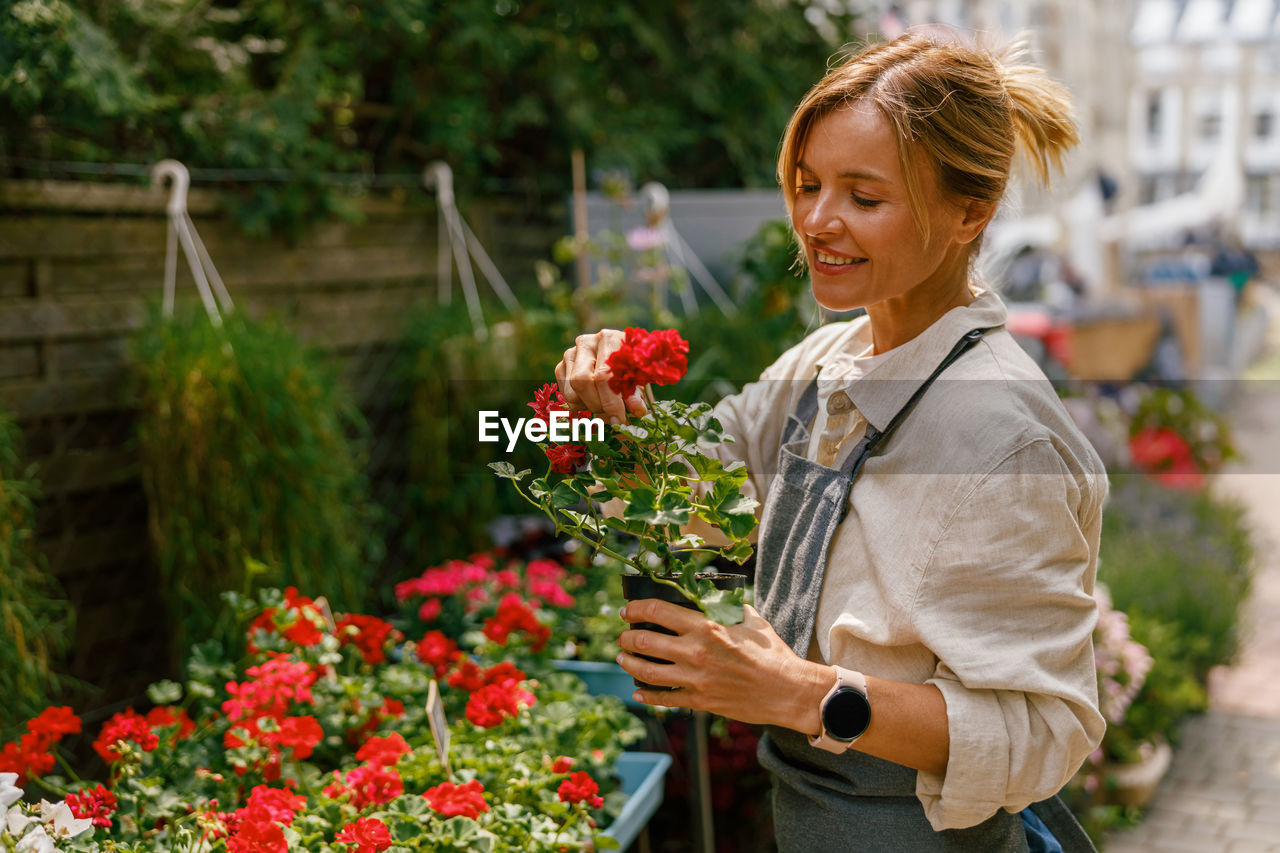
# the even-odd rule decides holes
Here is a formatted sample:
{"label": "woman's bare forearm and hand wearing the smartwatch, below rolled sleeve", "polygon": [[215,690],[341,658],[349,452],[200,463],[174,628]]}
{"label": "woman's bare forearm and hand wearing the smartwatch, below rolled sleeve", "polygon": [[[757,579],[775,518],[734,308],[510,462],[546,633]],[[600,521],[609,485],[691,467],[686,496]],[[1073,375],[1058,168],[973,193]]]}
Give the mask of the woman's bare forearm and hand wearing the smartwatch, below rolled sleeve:
{"label": "woman's bare forearm and hand wearing the smartwatch, below rolled sleeve", "polygon": [[[618,663],[649,684],[678,690],[636,690],[646,704],[695,708],[742,722],[817,735],[823,697],[836,683],[829,666],[799,657],[755,608],[739,625],[719,625],[698,611],[658,599],[628,602],[628,622],[657,622],[676,637],[626,630]],[[654,663],[634,652],[672,663]],[[867,754],[915,770],[946,772],[950,740],[942,693],[932,684],[867,679],[872,722],[852,744]]]}

